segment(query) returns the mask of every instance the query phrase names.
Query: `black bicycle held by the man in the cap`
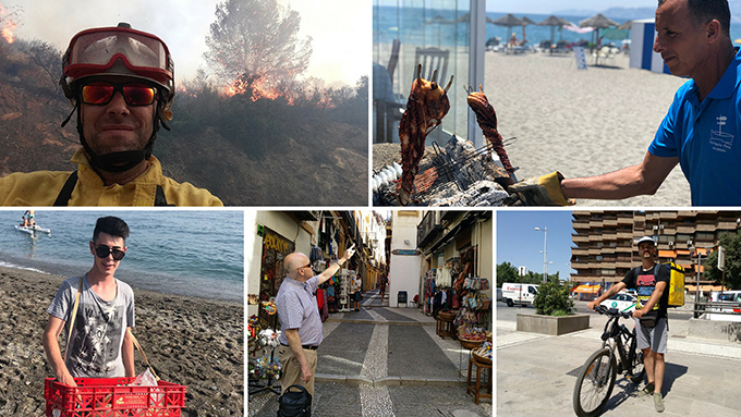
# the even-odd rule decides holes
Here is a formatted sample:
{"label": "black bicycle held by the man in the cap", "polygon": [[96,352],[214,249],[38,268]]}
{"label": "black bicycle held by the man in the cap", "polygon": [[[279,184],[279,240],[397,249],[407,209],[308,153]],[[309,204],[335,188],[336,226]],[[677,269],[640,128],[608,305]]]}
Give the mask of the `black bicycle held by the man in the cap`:
{"label": "black bicycle held by the man in the cap", "polygon": [[595,417],[602,414],[612,393],[617,373],[624,373],[637,385],[646,371],[643,367],[643,352],[636,348],[635,328],[630,331],[625,324],[618,323],[621,317],[628,319],[632,318],[632,315],[605,306],[597,306],[595,311],[606,314],[610,318],[605,323],[602,347],[586,359],[576,378],[573,406],[579,417]]}

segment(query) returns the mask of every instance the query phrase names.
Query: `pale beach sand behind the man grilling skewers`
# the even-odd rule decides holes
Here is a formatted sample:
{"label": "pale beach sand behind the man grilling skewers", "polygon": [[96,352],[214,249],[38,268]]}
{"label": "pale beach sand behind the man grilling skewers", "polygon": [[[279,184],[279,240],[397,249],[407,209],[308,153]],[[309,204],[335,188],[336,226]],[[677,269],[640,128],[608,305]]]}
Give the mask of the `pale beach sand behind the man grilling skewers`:
{"label": "pale beach sand behind the man grilling skewers", "polygon": [[[584,71],[576,69],[573,54],[486,52],[484,93],[501,136],[518,138],[507,154],[520,167],[519,180],[552,171],[592,176],[643,161],[685,79],[630,69],[628,54],[607,65]],[[578,205],[690,206],[690,186],[677,165],[654,196]]]}

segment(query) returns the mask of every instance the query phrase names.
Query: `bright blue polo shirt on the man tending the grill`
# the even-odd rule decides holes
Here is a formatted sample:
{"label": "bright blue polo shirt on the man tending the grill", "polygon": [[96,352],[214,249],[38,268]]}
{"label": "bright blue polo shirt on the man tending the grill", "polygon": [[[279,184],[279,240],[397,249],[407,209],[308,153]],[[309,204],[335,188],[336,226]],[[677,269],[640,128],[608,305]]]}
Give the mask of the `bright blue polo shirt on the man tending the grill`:
{"label": "bright blue polo shirt on the man tending the grill", "polygon": [[648,147],[657,157],[679,157],[693,206],[741,206],[740,65],[737,48],[702,102],[694,79],[684,83]]}

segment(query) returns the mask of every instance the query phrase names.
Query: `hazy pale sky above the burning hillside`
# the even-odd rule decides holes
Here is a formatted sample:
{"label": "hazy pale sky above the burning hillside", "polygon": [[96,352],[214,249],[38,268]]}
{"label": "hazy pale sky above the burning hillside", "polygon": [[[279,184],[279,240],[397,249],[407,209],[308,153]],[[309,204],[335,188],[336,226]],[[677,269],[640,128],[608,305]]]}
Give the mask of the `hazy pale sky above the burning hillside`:
{"label": "hazy pale sky above the burning hillside", "polygon": [[[355,85],[370,68],[370,0],[278,0],[301,14],[300,36],[312,36],[314,53],[308,74],[328,84]],[[89,27],[129,22],[159,36],[170,48],[175,81],[205,66],[206,34],[216,20],[216,0],[0,0],[21,5],[16,35],[40,38],[65,50],[74,34]],[[330,11],[330,12],[327,12]]]}

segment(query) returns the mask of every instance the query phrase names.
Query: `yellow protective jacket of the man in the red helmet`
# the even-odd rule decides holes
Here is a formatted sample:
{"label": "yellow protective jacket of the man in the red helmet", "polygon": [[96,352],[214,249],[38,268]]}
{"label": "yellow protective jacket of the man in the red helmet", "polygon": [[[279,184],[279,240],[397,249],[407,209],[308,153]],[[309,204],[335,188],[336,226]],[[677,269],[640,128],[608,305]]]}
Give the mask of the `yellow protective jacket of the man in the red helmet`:
{"label": "yellow protective jacket of the man in the red helmet", "polygon": [[[208,191],[162,175],[162,165],[155,157],[149,158],[146,172],[123,185],[105,185],[82,148],[71,161],[77,163],[77,181],[68,206],[154,206],[157,194],[160,194],[158,203],[162,203],[163,196],[171,206],[223,206]],[[69,171],[36,171],[4,176],[0,179],[0,205],[53,206],[71,174]]]}

